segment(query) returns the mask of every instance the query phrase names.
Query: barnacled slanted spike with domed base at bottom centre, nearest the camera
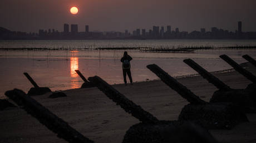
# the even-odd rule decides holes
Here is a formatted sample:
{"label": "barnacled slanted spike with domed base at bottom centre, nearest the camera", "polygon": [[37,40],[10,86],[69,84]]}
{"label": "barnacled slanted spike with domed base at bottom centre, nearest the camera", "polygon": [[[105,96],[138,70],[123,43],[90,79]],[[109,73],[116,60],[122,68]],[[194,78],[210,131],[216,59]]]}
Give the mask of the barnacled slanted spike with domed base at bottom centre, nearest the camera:
{"label": "barnacled slanted spike with domed base at bottom centre, nearest the camera", "polygon": [[123,143],[216,142],[204,128],[187,121],[160,121],[134,104],[99,76],[88,78],[107,97],[141,122],[126,131]]}

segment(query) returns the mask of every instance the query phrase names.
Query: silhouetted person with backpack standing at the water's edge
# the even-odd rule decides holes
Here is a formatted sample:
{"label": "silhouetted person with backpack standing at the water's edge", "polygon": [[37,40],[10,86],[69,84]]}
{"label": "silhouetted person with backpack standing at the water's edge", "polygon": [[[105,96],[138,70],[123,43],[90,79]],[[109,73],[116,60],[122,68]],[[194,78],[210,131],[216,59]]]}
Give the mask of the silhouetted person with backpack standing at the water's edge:
{"label": "silhouetted person with backpack standing at the water's edge", "polygon": [[130,55],[127,54],[127,52],[124,52],[124,57],[121,58],[121,62],[122,62],[122,74],[124,75],[124,81],[125,81],[125,85],[127,85],[127,81],[126,81],[126,74],[128,75],[129,79],[130,79],[130,83],[132,85],[132,78],[131,78],[131,64],[130,61],[132,60],[132,58],[130,57]]}

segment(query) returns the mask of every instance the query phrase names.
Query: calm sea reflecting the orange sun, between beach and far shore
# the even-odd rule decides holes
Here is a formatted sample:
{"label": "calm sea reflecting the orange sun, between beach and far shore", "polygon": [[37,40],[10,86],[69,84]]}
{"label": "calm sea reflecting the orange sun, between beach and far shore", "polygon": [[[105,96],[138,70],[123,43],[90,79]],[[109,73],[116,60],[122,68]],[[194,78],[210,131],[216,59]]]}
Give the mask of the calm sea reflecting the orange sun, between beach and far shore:
{"label": "calm sea reflecting the orange sun, between beach and far shore", "polygon": [[[0,40],[0,48],[68,48],[71,50],[0,50],[0,98],[13,88],[25,92],[32,84],[23,75],[29,73],[39,86],[51,90],[80,88],[83,81],[75,73],[78,69],[88,78],[98,75],[109,84],[123,83],[120,58],[124,50],[93,50],[103,47],[231,47],[254,46],[256,40]],[[72,50],[82,49],[88,50]],[[147,68],[155,63],[172,76],[195,74],[183,63],[191,58],[209,71],[231,68],[219,58],[227,54],[236,62],[247,62],[242,55],[249,54],[256,59],[256,49],[209,49],[190,53],[150,53],[128,50],[134,58],[131,61],[134,81],[157,79]],[[136,86],[136,84],[135,84]]]}

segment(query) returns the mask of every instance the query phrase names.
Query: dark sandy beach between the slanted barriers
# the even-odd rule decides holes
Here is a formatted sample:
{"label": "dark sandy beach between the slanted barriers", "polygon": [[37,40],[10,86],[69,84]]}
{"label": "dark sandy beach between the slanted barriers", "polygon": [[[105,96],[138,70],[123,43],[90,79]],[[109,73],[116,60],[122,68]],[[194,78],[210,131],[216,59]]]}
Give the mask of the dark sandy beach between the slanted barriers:
{"label": "dark sandy beach between the slanted barriers", "polygon": [[[255,75],[256,68],[249,63],[246,65]],[[251,83],[235,71],[214,75],[234,89],[243,89]],[[217,90],[201,76],[179,78],[178,81],[205,101],[209,101]],[[159,120],[177,120],[183,106],[188,104],[160,80],[113,86]],[[129,127],[139,122],[97,88],[63,92],[67,97],[50,99],[47,98],[50,94],[45,94],[33,98],[95,142],[122,142]],[[232,130],[209,131],[219,142],[256,142],[256,114],[247,116],[250,122],[239,124]],[[0,129],[0,142],[66,142],[21,108],[0,111]]]}

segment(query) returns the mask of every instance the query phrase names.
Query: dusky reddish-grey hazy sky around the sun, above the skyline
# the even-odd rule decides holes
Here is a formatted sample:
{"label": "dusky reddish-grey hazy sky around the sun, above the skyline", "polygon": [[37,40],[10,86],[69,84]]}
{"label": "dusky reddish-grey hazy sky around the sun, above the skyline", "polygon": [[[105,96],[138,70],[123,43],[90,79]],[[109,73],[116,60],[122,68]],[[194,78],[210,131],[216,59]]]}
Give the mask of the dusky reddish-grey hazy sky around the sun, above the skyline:
{"label": "dusky reddish-grey hazy sky around the sun, above the skyline", "polygon": [[[69,9],[77,6],[73,16]],[[191,32],[211,27],[256,31],[256,0],[0,0],[0,27],[23,32],[78,24],[79,31],[129,32],[152,25],[171,25]]]}

